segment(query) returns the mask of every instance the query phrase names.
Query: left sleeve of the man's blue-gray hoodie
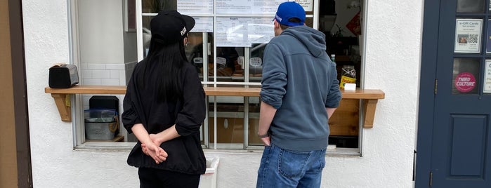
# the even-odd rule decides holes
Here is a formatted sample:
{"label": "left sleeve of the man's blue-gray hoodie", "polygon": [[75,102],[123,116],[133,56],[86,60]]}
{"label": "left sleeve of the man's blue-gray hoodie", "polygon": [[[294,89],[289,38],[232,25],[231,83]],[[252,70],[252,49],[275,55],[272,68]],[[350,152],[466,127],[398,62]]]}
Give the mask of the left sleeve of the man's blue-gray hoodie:
{"label": "left sleeve of the man's blue-gray hoodie", "polygon": [[279,109],[287,92],[287,68],[280,47],[269,43],[264,50],[261,100]]}

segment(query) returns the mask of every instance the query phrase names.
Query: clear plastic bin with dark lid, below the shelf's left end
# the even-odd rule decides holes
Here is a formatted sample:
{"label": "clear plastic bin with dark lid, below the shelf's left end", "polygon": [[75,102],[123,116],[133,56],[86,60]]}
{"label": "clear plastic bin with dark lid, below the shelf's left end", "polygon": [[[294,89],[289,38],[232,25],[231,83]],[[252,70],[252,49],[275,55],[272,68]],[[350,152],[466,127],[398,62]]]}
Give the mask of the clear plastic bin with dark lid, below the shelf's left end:
{"label": "clear plastic bin with dark lid, below the shelf's left end", "polygon": [[85,138],[87,140],[112,140],[118,129],[117,112],[114,109],[86,109]]}

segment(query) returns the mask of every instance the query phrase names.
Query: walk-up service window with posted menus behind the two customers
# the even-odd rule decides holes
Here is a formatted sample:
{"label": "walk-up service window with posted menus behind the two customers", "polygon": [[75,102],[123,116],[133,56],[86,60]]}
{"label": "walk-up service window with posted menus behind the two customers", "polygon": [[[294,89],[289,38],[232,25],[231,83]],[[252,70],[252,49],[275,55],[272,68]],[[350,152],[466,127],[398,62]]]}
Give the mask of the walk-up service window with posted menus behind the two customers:
{"label": "walk-up service window with posted menus behind the two customers", "polygon": [[[261,87],[263,51],[274,37],[273,18],[284,1],[72,0],[70,41],[72,62],[81,67],[79,85],[126,86],[134,65],[148,53],[150,20],[159,11],[176,10],[196,20],[185,51],[205,88],[244,88],[246,93],[249,88],[257,89]],[[339,79],[348,67],[355,72],[356,87],[362,88],[363,0],[297,2],[306,10],[306,25],[326,34],[327,53],[337,64]],[[119,94],[122,101],[124,88],[112,91],[107,94]],[[332,152],[334,148],[360,152],[359,137],[363,127],[372,127],[374,114],[361,109],[374,108],[377,99],[384,98],[382,92],[375,98],[365,93],[358,98],[357,93],[343,95],[341,106],[329,120]],[[76,147],[110,147],[136,141],[124,128],[119,131],[124,139],[118,141],[122,142],[86,140],[82,112],[92,95],[75,96]],[[372,102],[364,102],[365,98]],[[210,149],[261,149],[256,136],[260,101],[258,95],[207,94],[202,145]]]}

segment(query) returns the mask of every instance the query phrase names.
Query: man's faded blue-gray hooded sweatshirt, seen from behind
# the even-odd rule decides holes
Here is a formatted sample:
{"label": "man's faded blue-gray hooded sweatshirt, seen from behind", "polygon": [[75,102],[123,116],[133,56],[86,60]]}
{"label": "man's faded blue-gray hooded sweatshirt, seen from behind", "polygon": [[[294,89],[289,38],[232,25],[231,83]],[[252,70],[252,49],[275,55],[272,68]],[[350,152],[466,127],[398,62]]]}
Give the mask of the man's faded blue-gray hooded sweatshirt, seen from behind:
{"label": "man's faded blue-gray hooded sweatshirt, seen from behind", "polygon": [[329,137],[326,107],[341,100],[336,64],[326,53],[325,34],[289,27],[264,51],[261,100],[277,109],[271,142],[283,149],[325,149]]}

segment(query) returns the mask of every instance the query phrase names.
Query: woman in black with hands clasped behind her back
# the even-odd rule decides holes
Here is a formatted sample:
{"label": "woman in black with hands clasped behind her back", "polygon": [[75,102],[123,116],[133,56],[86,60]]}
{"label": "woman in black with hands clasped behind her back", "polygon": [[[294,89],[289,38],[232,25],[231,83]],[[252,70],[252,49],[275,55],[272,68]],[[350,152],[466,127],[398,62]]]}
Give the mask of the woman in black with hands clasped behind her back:
{"label": "woman in black with hands clasped behind her back", "polygon": [[133,70],[124,96],[122,121],[138,138],[127,162],[138,167],[140,187],[198,187],[206,170],[199,141],[205,96],[184,52],[195,20],[165,11],[150,25],[150,51]]}

